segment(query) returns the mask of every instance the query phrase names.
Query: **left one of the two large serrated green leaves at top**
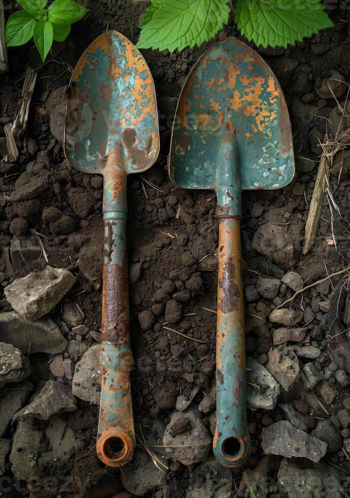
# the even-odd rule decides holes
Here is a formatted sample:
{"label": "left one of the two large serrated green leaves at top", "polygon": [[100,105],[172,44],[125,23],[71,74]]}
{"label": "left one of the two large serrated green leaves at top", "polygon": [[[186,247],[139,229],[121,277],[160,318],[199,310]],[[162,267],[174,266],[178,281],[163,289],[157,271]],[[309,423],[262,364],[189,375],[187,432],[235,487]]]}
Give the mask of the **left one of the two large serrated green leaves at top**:
{"label": "left one of the two large serrated green leaves at top", "polygon": [[227,23],[229,13],[226,0],[153,0],[136,46],[170,52],[199,46]]}

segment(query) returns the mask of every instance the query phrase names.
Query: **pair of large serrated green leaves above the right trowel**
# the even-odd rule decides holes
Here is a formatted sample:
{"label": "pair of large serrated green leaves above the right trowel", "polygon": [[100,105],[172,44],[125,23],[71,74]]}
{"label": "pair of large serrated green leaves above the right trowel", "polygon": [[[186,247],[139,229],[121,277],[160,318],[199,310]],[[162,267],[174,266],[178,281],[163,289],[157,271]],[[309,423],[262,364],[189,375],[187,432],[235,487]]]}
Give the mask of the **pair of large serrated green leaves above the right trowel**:
{"label": "pair of large serrated green leaves above the right trowel", "polygon": [[[213,38],[228,23],[228,0],[150,0],[138,48],[173,52]],[[237,0],[235,22],[257,46],[287,47],[333,26],[320,0]]]}

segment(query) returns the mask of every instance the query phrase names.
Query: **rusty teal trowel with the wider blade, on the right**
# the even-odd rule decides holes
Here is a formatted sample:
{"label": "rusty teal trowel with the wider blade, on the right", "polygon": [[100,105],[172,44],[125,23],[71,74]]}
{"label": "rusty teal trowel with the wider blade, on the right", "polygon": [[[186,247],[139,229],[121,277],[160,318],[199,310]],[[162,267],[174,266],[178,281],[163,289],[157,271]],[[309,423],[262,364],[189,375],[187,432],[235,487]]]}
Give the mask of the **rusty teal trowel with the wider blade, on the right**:
{"label": "rusty teal trowel with the wider blade, on the right", "polygon": [[217,422],[214,454],[243,464],[251,441],[240,254],[241,192],[280,189],[294,175],[286,102],[275,76],[248,45],[227,38],[192,69],[178,102],[170,177],[218,197]]}

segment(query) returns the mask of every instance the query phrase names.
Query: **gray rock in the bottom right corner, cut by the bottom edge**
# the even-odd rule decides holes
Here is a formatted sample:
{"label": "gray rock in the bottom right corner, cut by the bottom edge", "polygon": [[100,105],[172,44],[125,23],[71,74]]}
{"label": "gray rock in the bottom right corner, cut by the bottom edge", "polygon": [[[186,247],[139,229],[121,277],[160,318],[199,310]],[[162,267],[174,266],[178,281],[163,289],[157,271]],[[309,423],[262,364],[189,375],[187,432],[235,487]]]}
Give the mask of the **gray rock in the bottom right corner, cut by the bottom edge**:
{"label": "gray rock in the bottom right corner, cut by the bottom edge", "polygon": [[284,487],[288,498],[345,496],[338,471],[324,461],[314,464],[312,469],[298,469],[291,460],[284,458],[278,471],[278,483]]}

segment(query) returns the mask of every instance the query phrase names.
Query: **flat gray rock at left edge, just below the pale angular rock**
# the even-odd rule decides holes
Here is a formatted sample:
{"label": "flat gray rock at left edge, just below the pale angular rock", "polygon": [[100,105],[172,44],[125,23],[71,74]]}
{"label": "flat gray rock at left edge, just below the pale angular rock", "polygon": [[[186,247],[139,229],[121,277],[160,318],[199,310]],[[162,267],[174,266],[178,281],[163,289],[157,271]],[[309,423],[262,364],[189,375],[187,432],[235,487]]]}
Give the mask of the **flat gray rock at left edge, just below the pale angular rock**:
{"label": "flat gray rock at left edge, just below the pale angular rock", "polygon": [[0,313],[0,340],[12,344],[24,354],[61,353],[67,344],[50,318],[27,322],[15,312]]}

